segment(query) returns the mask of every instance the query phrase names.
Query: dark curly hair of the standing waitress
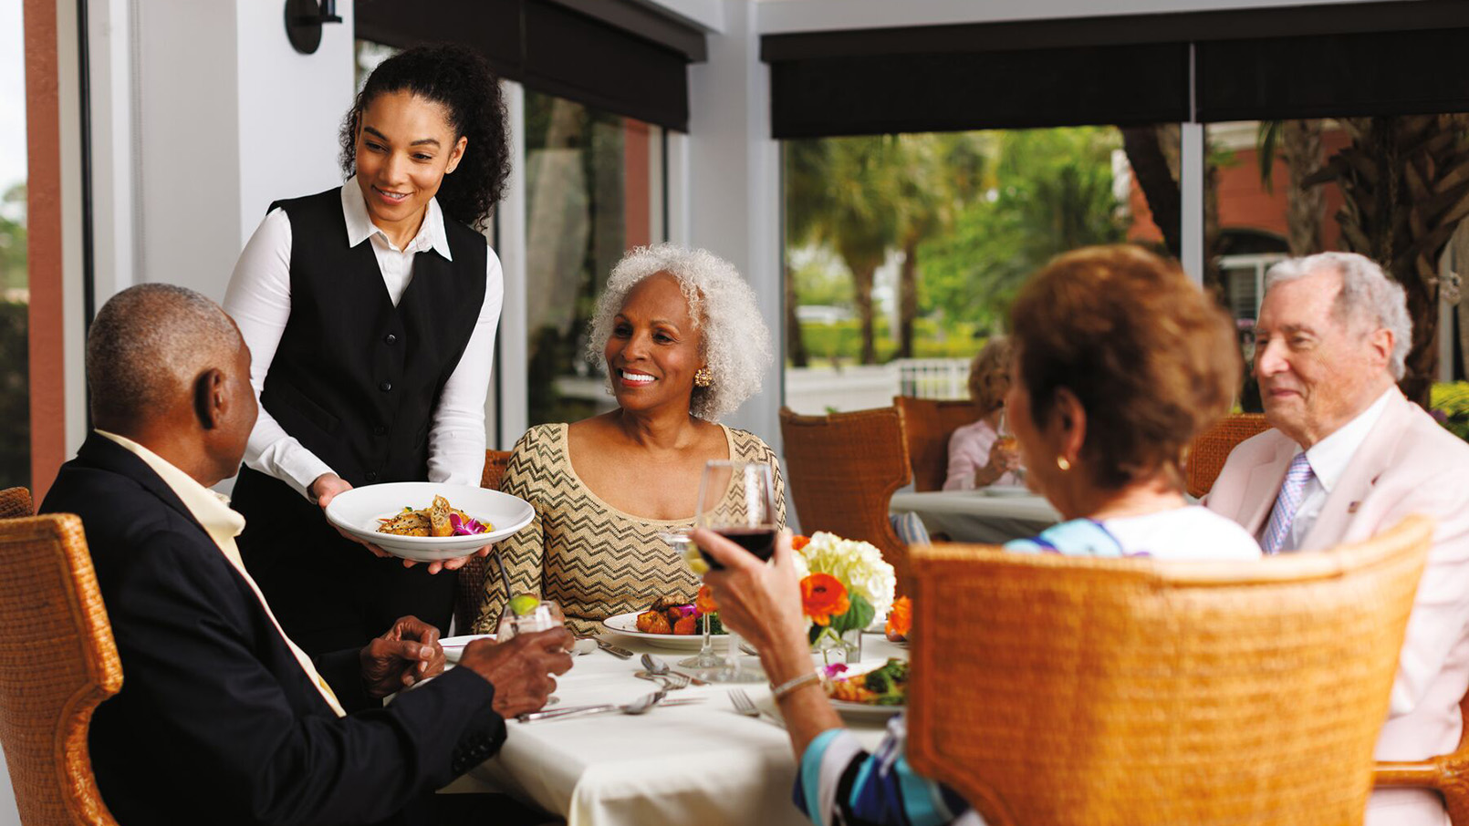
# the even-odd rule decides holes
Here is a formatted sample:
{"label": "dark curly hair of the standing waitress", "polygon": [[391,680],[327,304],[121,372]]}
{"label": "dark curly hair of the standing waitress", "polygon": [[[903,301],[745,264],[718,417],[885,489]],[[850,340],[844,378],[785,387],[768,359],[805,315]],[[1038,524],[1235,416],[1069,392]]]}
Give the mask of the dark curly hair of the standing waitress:
{"label": "dark curly hair of the standing waitress", "polygon": [[505,100],[485,59],[461,45],[419,45],[373,69],[342,119],[342,173],[357,172],[357,129],[367,104],[383,92],[400,91],[442,104],[455,138],[469,138],[464,157],[454,175],[444,176],[436,197],[444,214],[485,229],[510,175]]}

